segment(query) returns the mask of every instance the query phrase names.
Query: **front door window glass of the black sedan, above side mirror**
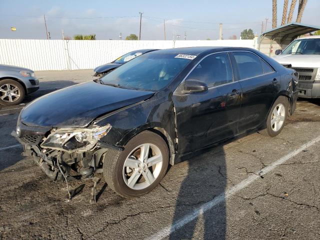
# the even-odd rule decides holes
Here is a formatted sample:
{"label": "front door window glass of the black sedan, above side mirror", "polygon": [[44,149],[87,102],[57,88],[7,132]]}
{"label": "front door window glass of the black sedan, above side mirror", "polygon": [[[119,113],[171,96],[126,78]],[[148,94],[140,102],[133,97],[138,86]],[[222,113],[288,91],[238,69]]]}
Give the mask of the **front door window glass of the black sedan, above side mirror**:
{"label": "front door window glass of the black sedan, above side mirror", "polygon": [[216,53],[205,57],[187,78],[203,81],[209,87],[231,82],[233,77],[229,55]]}

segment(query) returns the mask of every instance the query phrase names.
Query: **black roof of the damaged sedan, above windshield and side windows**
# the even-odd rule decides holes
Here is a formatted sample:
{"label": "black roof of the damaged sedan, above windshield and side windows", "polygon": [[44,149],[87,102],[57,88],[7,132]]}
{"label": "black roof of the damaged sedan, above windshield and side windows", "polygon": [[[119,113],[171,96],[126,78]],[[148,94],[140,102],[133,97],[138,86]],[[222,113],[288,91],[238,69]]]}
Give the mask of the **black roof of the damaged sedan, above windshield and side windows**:
{"label": "black roof of the damaged sedan, above windshield and side windows", "polygon": [[253,50],[249,47],[230,47],[230,46],[191,46],[191,47],[177,47],[157,50],[156,53],[181,53],[199,55],[201,53],[210,53],[216,51],[229,51],[229,50]]}

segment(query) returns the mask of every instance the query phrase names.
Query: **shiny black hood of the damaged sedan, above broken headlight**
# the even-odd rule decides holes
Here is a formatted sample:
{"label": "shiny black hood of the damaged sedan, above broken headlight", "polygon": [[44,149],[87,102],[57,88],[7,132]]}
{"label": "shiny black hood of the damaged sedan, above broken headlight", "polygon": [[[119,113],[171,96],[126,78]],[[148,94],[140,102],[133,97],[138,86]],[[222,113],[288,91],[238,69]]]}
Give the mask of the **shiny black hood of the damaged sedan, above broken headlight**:
{"label": "shiny black hood of the damaged sedan, above broken headlight", "polygon": [[96,82],[80,83],[32,101],[21,111],[20,121],[29,126],[84,127],[100,115],[146,100],[153,94]]}

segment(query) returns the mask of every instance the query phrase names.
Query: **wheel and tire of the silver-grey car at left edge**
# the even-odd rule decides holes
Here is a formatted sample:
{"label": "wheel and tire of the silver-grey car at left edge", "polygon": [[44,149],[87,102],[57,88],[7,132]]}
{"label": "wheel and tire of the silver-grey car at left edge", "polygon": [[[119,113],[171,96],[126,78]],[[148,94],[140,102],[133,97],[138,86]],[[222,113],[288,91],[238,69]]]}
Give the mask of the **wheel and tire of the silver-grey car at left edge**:
{"label": "wheel and tire of the silver-grey car at left edge", "polygon": [[23,86],[12,79],[4,79],[0,81],[0,104],[16,105],[24,98]]}

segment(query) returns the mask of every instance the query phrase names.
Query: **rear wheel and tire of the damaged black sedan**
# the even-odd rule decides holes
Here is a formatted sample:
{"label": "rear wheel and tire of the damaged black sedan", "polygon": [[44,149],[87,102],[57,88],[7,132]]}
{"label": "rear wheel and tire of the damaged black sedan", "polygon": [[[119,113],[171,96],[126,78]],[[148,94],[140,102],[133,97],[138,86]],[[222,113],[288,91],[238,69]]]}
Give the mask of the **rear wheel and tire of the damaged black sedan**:
{"label": "rear wheel and tire of the damaged black sedan", "polygon": [[266,119],[266,128],[259,133],[264,136],[274,137],[279,134],[284,126],[289,111],[289,101],[285,96],[279,96],[273,103]]}

